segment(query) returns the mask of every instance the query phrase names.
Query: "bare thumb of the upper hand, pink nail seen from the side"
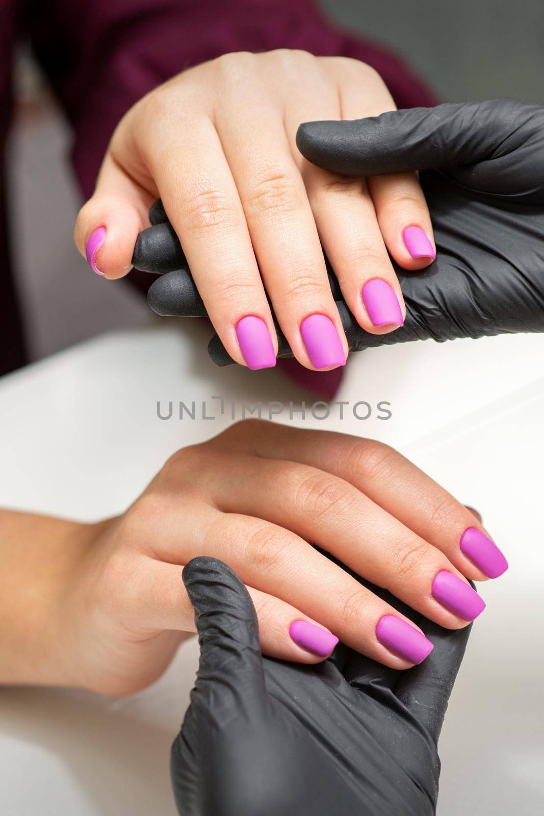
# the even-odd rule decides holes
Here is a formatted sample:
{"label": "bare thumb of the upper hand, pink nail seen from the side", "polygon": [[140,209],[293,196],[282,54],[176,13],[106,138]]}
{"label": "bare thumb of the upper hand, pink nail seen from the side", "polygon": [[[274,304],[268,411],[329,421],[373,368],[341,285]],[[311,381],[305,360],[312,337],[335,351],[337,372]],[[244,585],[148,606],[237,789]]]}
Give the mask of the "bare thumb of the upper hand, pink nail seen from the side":
{"label": "bare thumb of the upper hand, pink nail seen from the side", "polygon": [[74,240],[93,272],[113,279],[132,268],[132,251],[148,223],[153,196],[113,161],[104,158],[95,193],[77,215]]}

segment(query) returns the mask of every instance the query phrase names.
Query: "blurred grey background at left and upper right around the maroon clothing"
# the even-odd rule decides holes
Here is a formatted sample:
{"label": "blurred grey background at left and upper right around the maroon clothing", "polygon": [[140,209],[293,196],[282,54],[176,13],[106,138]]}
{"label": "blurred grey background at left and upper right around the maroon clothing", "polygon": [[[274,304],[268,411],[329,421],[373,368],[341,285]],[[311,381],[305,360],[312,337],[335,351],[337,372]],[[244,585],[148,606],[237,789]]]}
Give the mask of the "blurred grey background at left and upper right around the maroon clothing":
{"label": "blurred grey background at left and upper right around the maroon clothing", "polygon": [[[296,0],[295,0],[296,2]],[[544,99],[542,0],[320,0],[329,17],[411,61],[444,101]],[[158,320],[128,286],[96,277],[73,246],[80,205],[69,131],[27,51],[10,147],[12,237],[34,359],[108,329]]]}

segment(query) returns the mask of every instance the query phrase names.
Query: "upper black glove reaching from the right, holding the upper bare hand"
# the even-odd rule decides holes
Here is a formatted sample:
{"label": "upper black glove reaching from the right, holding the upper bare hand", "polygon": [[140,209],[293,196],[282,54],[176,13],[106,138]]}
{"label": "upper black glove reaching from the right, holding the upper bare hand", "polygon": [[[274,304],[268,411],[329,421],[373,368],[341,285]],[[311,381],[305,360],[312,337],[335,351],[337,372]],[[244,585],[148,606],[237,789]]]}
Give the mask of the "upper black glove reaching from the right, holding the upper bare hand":
{"label": "upper black glove reaching from the right, holding the upper bare hand", "polygon": [[[344,175],[422,171],[436,261],[419,273],[393,264],[406,320],[387,335],[360,328],[334,280],[350,350],[544,330],[541,104],[499,99],[400,110],[355,122],[308,122],[299,127],[297,144],[311,162]],[[137,268],[184,268],[151,286],[149,304],[159,314],[203,313],[182,256],[167,224],[157,233],[153,228],[140,233]],[[285,338],[279,339],[278,356],[292,356]],[[232,363],[217,336],[209,352],[219,366]]]}

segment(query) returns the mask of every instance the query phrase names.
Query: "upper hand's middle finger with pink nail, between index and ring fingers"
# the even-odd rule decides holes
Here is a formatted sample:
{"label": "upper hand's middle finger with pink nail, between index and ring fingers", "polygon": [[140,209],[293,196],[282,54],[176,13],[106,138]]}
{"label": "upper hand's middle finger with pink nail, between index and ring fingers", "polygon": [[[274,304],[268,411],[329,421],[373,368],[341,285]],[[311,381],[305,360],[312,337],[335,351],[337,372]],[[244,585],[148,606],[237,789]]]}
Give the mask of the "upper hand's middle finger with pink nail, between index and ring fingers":
{"label": "upper hand's middle finger with pink nail, between index and ring fingers", "polygon": [[228,79],[234,83],[232,95],[227,91],[228,104],[218,111],[216,125],[276,320],[303,366],[343,366],[347,343],[281,106],[259,102],[268,89],[259,76],[248,84],[247,74],[241,106],[239,80],[237,72]]}

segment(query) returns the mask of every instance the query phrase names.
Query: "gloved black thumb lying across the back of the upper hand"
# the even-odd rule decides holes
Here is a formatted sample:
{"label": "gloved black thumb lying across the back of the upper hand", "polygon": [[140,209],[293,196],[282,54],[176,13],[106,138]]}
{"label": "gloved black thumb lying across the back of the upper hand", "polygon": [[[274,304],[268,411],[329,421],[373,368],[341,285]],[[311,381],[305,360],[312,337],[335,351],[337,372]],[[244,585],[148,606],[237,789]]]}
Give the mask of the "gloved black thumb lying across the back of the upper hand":
{"label": "gloved black thumb lying across the back of the upper hand", "polygon": [[[496,99],[344,122],[304,122],[297,147],[309,162],[341,175],[444,170],[500,154],[506,138],[519,129],[520,117],[527,118],[528,107],[538,106]],[[507,149],[516,146],[509,140]]]}

